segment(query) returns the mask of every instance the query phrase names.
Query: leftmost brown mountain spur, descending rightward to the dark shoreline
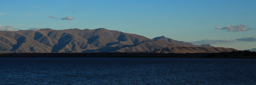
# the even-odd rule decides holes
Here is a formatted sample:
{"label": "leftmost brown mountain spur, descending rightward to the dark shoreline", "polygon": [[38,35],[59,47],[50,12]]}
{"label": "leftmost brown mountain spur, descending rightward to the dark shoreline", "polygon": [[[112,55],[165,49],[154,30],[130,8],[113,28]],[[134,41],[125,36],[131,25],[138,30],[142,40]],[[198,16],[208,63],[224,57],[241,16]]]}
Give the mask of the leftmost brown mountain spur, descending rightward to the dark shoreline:
{"label": "leftmost brown mountain spur, descending rightward to the dark shoreline", "polygon": [[0,31],[0,39],[4,44],[1,47],[12,47],[11,50],[1,50],[1,52],[50,52],[52,47],[43,45],[36,40],[20,34],[19,32]]}

